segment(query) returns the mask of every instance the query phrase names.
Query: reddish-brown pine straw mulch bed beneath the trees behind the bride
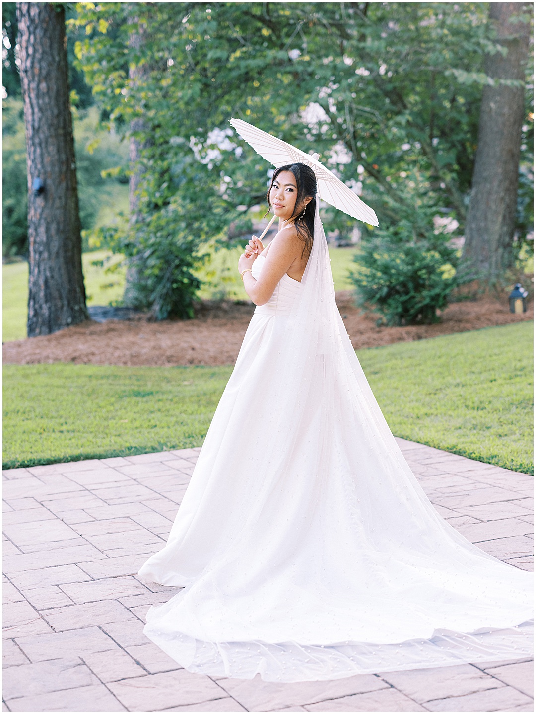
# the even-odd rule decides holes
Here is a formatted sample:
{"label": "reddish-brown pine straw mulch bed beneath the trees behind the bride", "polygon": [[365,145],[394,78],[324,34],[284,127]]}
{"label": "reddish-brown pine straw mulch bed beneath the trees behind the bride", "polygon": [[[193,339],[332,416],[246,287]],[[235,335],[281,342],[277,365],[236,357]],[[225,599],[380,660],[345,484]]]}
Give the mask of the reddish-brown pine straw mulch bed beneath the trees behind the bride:
{"label": "reddish-brown pine straw mulch bed beneath the trees behind the bride", "polygon": [[[378,347],[438,335],[532,320],[532,301],[522,315],[493,298],[453,303],[436,325],[378,327],[378,316],[362,313],[351,291],[337,293],[337,303],[354,348]],[[87,321],[53,335],[4,343],[4,363],[73,362],[124,366],[233,364],[254,305],[204,302],[195,320],[149,322],[140,317],[105,323]],[[513,348],[514,346],[512,346]]]}

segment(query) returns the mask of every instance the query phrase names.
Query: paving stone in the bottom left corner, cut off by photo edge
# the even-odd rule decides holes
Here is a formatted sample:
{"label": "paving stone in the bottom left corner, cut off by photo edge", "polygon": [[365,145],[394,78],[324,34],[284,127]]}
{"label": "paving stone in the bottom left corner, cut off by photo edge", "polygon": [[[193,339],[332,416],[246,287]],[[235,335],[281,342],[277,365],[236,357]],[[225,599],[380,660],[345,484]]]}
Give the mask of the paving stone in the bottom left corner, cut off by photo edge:
{"label": "paving stone in the bottom left corner, cut off by photo edge", "polygon": [[103,684],[67,689],[33,697],[10,699],[9,708],[14,712],[116,712],[125,707]]}

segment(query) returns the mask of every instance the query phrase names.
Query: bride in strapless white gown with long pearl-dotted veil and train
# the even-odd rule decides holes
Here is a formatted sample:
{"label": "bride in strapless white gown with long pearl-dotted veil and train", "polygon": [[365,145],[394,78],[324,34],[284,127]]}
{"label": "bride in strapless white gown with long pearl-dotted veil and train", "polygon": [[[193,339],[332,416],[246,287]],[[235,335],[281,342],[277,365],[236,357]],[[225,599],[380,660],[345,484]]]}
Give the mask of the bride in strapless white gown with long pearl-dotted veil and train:
{"label": "bride in strapless white gown with long pearl-dotted veil and train", "polygon": [[277,169],[279,232],[173,523],[140,569],[182,586],[144,632],[191,672],[294,682],[530,654],[532,576],[443,521],[336,308],[314,172]]}

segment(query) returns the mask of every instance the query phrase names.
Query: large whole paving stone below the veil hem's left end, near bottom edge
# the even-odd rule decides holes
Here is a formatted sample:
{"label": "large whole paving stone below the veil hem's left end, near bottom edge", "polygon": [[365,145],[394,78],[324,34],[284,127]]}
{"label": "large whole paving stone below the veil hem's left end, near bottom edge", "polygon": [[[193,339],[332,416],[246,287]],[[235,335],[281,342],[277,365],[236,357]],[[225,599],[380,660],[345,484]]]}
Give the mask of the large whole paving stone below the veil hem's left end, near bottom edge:
{"label": "large whole paving stone below the veil hem's left end, near bottom edge", "polygon": [[155,711],[221,698],[222,689],[208,677],[176,670],[111,682],[108,687],[128,710]]}

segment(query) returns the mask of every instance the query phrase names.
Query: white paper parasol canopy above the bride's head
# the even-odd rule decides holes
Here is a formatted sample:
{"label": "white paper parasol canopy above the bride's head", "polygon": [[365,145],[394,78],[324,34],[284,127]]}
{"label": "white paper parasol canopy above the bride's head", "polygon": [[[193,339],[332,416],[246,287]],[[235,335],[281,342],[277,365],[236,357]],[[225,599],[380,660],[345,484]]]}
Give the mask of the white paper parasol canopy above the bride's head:
{"label": "white paper parasol canopy above the bride's head", "polygon": [[236,129],[242,139],[252,146],[257,154],[273,164],[277,169],[287,164],[306,164],[310,166],[316,176],[316,185],[319,198],[331,206],[339,208],[339,211],[348,213],[349,216],[357,218],[359,221],[369,223],[371,226],[378,226],[376,213],[370,206],[367,206],[361,198],[354,193],[346,183],[326,169],[319,161],[319,154],[305,154],[296,146],[287,144],[277,136],[268,134],[267,131],[257,129],[256,126],[248,124],[242,119],[230,119],[231,126]]}

